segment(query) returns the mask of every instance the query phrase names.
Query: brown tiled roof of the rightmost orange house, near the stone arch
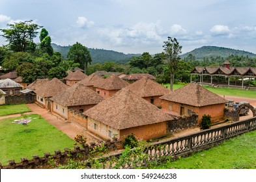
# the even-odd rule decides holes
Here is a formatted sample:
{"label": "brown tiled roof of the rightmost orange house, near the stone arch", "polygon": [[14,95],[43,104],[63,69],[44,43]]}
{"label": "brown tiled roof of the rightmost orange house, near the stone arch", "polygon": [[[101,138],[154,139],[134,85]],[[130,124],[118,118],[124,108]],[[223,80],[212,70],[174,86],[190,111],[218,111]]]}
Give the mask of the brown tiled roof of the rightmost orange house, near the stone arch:
{"label": "brown tiled roof of the rightmost orange house, near the stone arch", "polygon": [[196,107],[227,102],[226,99],[223,99],[217,94],[210,92],[209,90],[203,88],[203,86],[193,83],[178,88],[177,90],[160,97],[160,99]]}

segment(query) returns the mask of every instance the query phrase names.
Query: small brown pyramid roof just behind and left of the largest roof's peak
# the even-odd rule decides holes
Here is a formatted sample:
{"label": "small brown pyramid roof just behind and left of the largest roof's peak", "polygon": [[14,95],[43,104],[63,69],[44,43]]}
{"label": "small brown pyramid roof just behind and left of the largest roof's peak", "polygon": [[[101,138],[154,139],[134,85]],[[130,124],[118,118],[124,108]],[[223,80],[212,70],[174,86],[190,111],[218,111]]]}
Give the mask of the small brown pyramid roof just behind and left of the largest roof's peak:
{"label": "small brown pyramid roof just behind and left of the largest roof's peak", "polygon": [[128,85],[129,84],[123,79],[115,75],[111,75],[110,77],[107,77],[106,79],[104,79],[100,83],[97,83],[94,86],[97,88],[103,88],[105,90],[121,90]]}

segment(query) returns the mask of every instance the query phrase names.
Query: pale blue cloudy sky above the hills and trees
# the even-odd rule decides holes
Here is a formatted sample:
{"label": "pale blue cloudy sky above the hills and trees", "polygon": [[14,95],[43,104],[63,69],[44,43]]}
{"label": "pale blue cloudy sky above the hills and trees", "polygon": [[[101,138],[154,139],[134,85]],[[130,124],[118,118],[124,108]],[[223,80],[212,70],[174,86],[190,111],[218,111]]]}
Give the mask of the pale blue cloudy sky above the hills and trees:
{"label": "pale blue cloudy sky above the hills and trees", "polygon": [[255,0],[0,0],[0,29],[33,19],[59,45],[154,54],[171,36],[182,53],[203,45],[256,53],[255,12]]}

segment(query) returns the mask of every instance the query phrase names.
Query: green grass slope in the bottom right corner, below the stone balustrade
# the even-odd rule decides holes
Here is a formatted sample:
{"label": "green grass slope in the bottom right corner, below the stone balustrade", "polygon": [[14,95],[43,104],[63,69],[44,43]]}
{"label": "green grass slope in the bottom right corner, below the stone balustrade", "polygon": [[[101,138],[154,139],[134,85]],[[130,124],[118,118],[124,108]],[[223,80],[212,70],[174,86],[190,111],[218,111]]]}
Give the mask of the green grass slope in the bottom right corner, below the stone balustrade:
{"label": "green grass slope in the bottom right corner, below the stone balustrade", "polygon": [[166,162],[156,168],[177,169],[255,169],[256,131],[232,138],[190,157]]}

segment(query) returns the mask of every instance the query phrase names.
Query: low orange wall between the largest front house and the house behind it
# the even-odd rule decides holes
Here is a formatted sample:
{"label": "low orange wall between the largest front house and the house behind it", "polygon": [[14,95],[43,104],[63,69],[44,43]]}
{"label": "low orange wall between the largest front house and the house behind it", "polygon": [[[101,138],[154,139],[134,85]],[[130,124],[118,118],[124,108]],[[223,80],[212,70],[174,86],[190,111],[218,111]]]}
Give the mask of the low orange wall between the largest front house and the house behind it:
{"label": "low orange wall between the largest front house and the house behind it", "polygon": [[85,117],[85,115],[76,112],[76,110],[68,109],[68,121],[78,123],[85,129],[88,128],[87,118]]}

